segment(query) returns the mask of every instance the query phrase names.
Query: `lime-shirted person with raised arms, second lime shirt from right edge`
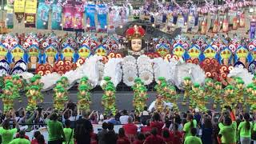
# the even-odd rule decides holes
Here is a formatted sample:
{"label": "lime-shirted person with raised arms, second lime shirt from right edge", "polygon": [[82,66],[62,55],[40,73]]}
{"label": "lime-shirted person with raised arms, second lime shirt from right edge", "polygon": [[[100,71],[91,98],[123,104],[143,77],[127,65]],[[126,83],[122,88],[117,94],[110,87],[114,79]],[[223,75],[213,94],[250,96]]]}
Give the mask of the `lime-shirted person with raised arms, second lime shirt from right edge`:
{"label": "lime-shirted person with raised arms, second lime shirt from right edge", "polygon": [[[220,118],[223,116],[221,115]],[[225,144],[235,144],[236,143],[236,130],[237,130],[237,122],[232,122],[230,117],[224,118],[224,124],[220,122],[218,124],[220,129],[218,133],[218,137],[221,138],[222,143]]]}

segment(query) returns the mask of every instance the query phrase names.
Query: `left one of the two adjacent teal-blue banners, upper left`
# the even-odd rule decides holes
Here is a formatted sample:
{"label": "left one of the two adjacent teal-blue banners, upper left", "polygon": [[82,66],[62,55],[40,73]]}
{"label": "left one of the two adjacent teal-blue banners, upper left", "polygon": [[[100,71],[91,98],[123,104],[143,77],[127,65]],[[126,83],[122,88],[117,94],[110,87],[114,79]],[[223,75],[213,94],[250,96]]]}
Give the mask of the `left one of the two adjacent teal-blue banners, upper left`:
{"label": "left one of the two adjacent teal-blue banners, upper left", "polygon": [[45,2],[40,2],[37,13],[37,29],[48,29],[50,6]]}

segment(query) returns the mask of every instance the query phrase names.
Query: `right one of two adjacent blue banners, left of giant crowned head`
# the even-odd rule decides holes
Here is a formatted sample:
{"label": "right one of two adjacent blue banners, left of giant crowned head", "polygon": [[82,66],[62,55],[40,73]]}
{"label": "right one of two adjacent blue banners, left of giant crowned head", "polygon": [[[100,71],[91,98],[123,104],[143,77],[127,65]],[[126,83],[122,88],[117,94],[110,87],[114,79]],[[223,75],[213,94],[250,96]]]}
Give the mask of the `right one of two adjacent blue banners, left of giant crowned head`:
{"label": "right one of two adjacent blue banners, left of giant crowned head", "polygon": [[106,5],[98,5],[98,31],[106,31],[107,30],[107,7]]}

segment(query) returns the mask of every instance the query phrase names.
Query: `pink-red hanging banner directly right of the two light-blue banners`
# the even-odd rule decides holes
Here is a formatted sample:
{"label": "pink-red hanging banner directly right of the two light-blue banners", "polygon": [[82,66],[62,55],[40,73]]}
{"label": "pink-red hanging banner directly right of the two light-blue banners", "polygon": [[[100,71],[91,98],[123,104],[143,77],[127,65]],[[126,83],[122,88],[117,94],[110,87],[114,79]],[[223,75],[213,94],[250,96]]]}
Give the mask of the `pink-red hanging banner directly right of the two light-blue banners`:
{"label": "pink-red hanging banner directly right of the two light-blue banners", "polygon": [[74,31],[73,18],[74,18],[74,6],[73,1],[68,0],[66,5],[63,7],[63,30]]}

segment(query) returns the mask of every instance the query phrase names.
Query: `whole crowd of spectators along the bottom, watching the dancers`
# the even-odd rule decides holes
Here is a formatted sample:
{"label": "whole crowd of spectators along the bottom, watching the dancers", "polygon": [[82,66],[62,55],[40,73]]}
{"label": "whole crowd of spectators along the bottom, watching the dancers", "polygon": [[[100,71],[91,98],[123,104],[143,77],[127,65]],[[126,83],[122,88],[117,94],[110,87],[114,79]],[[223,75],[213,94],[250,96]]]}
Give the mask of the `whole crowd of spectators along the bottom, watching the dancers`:
{"label": "whole crowd of spectators along the bottom, watching the dancers", "polygon": [[[145,107],[141,114],[120,110],[115,115],[104,115],[67,104],[62,112],[41,107],[34,111],[10,110],[1,114],[0,121],[2,144],[256,144],[256,115],[229,106],[221,113],[150,113]],[[97,132],[95,125],[101,127]],[[47,139],[38,130],[44,127]],[[26,135],[30,130],[34,130],[34,138]]]}

